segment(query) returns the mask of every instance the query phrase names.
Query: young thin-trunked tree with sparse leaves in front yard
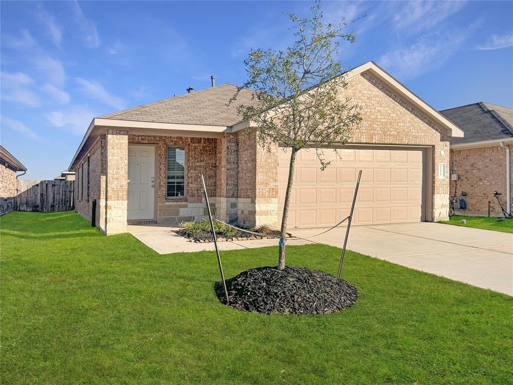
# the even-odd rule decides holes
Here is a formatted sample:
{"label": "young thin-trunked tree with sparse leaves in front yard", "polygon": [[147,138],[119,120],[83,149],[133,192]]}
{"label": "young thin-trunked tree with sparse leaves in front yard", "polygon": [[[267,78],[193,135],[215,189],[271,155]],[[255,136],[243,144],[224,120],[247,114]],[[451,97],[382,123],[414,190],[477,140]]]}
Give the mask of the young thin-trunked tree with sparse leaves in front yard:
{"label": "young thin-trunked tree with sparse leaves in front yard", "polygon": [[322,148],[346,143],[361,120],[359,107],[340,96],[347,84],[345,70],[337,60],[340,41],[353,42],[356,36],[344,32],[348,25],[344,18],[337,25],[323,23],[320,2],[311,11],[311,18],[286,14],[295,29],[295,41],[286,50],[251,50],[244,61],[248,80],[239,88],[252,89],[253,98],[258,100],[257,105],[238,107],[248,129],[256,130],[257,142],[269,150],[272,144],[280,143],[284,150],[291,151],[281,223],[280,270],[285,268],[285,234],[298,151],[315,148],[324,169],[329,162],[325,162]]}

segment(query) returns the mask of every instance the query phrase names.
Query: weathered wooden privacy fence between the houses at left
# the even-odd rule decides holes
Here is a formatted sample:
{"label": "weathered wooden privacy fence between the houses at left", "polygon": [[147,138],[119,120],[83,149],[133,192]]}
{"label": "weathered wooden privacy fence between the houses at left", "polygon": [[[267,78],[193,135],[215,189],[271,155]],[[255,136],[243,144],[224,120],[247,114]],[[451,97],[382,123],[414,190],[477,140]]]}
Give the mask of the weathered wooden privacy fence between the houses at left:
{"label": "weathered wooden privacy fence between the houses at left", "polygon": [[75,208],[75,181],[18,181],[14,209],[18,211],[66,211]]}

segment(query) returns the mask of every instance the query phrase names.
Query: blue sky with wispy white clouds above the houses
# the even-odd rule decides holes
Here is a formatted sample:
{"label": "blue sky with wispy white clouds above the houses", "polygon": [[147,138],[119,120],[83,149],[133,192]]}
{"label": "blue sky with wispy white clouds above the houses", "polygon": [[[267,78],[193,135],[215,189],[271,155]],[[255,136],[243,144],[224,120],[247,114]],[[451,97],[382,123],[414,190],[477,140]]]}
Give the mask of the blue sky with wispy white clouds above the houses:
{"label": "blue sky with wispy white clouds above the houses", "polygon": [[[1,142],[28,168],[66,169],[92,118],[216,84],[241,84],[251,48],[285,48],[283,12],[311,2],[5,2]],[[325,2],[373,60],[427,103],[513,106],[513,2]]]}

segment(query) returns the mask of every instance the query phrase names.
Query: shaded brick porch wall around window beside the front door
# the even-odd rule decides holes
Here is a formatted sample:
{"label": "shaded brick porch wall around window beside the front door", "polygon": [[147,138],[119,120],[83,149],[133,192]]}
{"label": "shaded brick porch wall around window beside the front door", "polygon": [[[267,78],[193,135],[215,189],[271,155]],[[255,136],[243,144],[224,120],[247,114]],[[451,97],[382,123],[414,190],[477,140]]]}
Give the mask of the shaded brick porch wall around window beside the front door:
{"label": "shaded brick porch wall around window beside the front door", "polygon": [[[180,223],[208,216],[201,175],[205,178],[211,209],[215,213],[216,157],[218,139],[129,134],[130,144],[155,144],[157,176],[157,222]],[[166,198],[167,147],[185,148],[185,198]]]}

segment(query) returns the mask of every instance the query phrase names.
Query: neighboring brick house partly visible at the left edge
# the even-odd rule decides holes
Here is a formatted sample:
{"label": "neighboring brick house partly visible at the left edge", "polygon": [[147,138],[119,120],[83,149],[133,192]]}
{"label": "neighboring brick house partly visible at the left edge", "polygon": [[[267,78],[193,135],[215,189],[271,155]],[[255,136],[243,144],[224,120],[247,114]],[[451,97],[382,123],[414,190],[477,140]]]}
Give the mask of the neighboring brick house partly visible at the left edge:
{"label": "neighboring brick house partly visible at the left edge", "polygon": [[14,209],[14,197],[17,195],[16,172],[27,172],[27,167],[21,164],[3,146],[0,146],[0,215]]}

